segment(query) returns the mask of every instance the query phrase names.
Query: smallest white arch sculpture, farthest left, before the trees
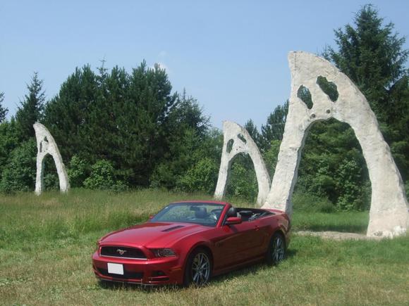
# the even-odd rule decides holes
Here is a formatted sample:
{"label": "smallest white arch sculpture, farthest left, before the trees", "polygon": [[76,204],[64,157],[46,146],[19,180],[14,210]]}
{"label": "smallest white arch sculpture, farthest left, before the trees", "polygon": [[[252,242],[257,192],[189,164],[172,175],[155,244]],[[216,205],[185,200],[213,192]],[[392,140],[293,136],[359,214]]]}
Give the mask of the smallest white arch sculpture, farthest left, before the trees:
{"label": "smallest white arch sculpture, farthest left, before the trees", "polygon": [[68,175],[53,136],[51,136],[48,129],[41,123],[36,122],[33,127],[35,129],[35,138],[37,139],[37,175],[35,179],[35,193],[39,195],[43,190],[44,158],[47,154],[50,154],[54,159],[56,170],[59,174],[60,191],[67,192],[70,188]]}

